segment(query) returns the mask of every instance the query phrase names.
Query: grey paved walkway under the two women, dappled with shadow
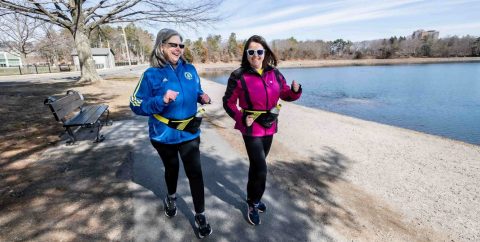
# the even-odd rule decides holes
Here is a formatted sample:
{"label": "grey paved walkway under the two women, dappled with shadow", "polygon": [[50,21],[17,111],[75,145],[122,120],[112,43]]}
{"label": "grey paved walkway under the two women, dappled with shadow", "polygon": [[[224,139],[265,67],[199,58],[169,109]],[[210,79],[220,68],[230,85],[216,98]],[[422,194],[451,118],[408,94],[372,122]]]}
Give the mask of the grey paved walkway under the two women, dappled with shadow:
{"label": "grey paved walkway under the two women, dappled with shadow", "polygon": [[[122,162],[117,177],[128,180],[129,189],[134,194],[133,238],[136,241],[198,241],[193,203],[183,166],[178,181],[177,216],[167,218],[164,215],[164,168],[149,142],[147,129],[147,119],[143,117],[116,121],[112,126],[104,127],[102,133],[107,139],[93,148],[107,151],[115,146],[132,147],[130,157]],[[81,133],[76,145],[60,144],[44,152],[43,159],[61,156],[65,149],[69,152],[92,149],[92,135]],[[202,124],[200,148],[206,214],[213,228],[212,235],[204,240],[334,241],[323,231],[325,227],[317,226],[311,220],[305,203],[294,199],[288,191],[279,189],[281,185],[271,182],[272,179],[267,182],[263,198],[268,208],[266,213],[261,214],[262,224],[256,227],[250,225],[246,221],[244,202],[248,160],[233,150],[208,122]],[[338,235],[335,238],[337,240]]]}

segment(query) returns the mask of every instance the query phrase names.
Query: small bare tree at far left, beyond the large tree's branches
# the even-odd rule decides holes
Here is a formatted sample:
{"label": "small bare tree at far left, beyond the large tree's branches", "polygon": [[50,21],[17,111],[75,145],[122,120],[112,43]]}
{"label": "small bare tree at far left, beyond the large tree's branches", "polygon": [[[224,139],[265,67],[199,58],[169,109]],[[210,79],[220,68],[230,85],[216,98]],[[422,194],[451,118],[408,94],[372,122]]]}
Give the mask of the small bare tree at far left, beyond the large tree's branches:
{"label": "small bare tree at far left, beyond the large tree's branches", "polygon": [[33,41],[37,39],[38,27],[43,22],[18,13],[9,13],[0,20],[0,42],[9,51],[19,54],[23,64],[27,55],[35,51]]}

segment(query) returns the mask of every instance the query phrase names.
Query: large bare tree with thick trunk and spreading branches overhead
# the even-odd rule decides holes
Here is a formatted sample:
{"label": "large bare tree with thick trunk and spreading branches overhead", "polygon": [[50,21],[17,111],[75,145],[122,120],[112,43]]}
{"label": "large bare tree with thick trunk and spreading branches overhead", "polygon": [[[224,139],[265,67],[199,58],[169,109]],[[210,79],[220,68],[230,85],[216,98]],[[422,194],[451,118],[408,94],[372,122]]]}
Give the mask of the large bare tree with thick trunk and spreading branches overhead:
{"label": "large bare tree with thick trunk and spreading branches overhead", "polygon": [[78,52],[80,81],[101,80],[92,58],[89,36],[104,24],[145,21],[196,26],[218,20],[213,13],[222,0],[202,0],[189,4],[173,0],[0,0],[0,16],[17,12],[23,16],[50,22],[68,29]]}

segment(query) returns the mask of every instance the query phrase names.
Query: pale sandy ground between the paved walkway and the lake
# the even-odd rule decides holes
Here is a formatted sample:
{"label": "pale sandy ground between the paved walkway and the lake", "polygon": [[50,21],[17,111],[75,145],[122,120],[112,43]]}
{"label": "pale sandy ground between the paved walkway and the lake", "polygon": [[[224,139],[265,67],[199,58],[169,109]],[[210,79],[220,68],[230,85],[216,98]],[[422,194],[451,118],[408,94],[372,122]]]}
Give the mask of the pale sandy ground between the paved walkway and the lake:
{"label": "pale sandy ground between the paved walkway and the lake", "polygon": [[[215,101],[210,122],[245,153],[222,113],[225,86],[202,85]],[[480,240],[480,146],[283,104],[270,167],[299,167],[269,169],[269,179],[303,197],[319,223],[335,214],[327,226],[354,241]]]}

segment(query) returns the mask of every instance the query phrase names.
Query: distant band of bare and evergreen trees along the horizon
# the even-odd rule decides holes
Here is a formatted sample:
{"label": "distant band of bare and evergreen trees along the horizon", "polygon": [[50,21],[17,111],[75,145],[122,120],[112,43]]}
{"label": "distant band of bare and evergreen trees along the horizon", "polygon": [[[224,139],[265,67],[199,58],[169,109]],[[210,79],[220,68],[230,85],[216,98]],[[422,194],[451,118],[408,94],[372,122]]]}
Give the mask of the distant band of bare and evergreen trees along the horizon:
{"label": "distant band of bare and evergreen trees along the horizon", "polygon": [[[51,24],[35,29],[34,39],[24,41],[1,41],[0,49],[20,53],[22,63],[72,63],[74,40],[65,29]],[[148,62],[155,36],[133,23],[125,26],[125,35],[121,27],[103,26],[90,33],[90,46],[111,48],[115,61]],[[438,36],[438,35],[437,35]],[[299,41],[294,37],[270,41],[270,45],[280,60],[318,60],[318,59],[367,59],[367,58],[403,58],[403,57],[457,57],[480,56],[480,38],[473,36],[426,38],[391,37],[388,39],[351,42],[337,39],[334,41]],[[126,39],[126,41],[125,41]],[[28,40],[28,41],[27,41]],[[230,62],[242,58],[245,40],[238,40],[235,33],[228,39],[220,35],[207,38],[185,40],[185,56],[191,62]],[[128,46],[128,52],[125,48]],[[13,48],[11,46],[17,46]]]}

